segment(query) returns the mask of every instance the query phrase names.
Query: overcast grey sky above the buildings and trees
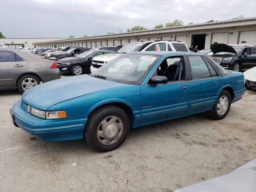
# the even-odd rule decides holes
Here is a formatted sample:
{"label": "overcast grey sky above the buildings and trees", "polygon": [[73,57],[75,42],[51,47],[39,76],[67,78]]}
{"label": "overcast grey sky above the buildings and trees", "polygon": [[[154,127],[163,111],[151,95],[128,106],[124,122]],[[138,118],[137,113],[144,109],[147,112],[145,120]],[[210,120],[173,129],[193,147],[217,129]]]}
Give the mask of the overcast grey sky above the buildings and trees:
{"label": "overcast grey sky above the buildings and trees", "polygon": [[1,0],[0,32],[6,38],[79,38],[239,15],[256,17],[256,0]]}

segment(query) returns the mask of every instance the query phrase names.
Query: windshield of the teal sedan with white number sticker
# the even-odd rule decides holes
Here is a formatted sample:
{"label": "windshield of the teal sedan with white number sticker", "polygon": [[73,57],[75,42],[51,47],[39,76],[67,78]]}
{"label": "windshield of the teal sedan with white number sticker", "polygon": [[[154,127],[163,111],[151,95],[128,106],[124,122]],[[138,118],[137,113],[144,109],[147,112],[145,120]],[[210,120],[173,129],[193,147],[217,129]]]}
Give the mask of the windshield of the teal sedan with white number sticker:
{"label": "windshield of the teal sedan with white number sticker", "polygon": [[122,54],[104,64],[91,76],[127,84],[140,84],[160,56],[145,54]]}

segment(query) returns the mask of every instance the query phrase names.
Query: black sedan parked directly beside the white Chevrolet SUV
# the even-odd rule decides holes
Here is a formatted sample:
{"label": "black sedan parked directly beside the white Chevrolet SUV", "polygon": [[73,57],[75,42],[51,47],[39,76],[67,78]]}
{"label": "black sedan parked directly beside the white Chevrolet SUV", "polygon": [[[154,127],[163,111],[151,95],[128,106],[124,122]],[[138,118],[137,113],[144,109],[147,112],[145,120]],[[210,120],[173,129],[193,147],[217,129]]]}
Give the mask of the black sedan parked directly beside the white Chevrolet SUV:
{"label": "black sedan parked directly beside the white Chevrolet SUV", "polygon": [[80,75],[83,73],[90,73],[90,66],[92,65],[92,58],[103,55],[115,53],[109,50],[92,50],[86,51],[72,58],[62,58],[57,61],[58,68],[61,73],[71,73],[72,75]]}

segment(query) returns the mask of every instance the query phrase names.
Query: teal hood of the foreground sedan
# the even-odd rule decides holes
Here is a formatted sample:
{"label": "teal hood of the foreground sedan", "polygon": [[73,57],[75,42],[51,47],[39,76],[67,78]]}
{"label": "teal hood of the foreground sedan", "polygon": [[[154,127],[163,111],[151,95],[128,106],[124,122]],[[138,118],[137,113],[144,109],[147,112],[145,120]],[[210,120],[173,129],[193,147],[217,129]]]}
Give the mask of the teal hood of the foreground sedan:
{"label": "teal hood of the foreground sedan", "polygon": [[127,85],[84,74],[35,86],[24,92],[22,101],[34,108],[47,110],[49,107],[66,100]]}

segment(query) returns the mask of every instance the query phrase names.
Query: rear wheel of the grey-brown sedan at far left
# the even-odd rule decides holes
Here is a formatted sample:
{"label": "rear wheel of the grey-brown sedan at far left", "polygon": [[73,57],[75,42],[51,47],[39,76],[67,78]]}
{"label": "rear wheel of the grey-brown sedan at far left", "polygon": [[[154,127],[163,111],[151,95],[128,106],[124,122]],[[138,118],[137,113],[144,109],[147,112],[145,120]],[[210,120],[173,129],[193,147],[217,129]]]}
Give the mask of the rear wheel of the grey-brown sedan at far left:
{"label": "rear wheel of the grey-brown sedan at far left", "polygon": [[24,93],[29,88],[39,84],[40,84],[40,80],[38,79],[38,77],[29,74],[29,75],[24,75],[20,77],[17,83],[17,88],[21,93]]}

